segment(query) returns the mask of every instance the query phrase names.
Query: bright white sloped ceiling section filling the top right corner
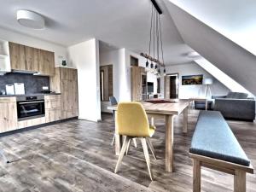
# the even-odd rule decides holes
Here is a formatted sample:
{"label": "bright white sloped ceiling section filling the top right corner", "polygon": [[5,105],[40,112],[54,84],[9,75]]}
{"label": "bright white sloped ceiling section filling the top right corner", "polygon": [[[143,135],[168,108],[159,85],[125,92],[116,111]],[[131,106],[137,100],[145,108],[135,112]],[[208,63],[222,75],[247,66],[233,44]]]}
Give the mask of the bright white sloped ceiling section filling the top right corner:
{"label": "bright white sloped ceiling section filling the top right corner", "polygon": [[168,0],[256,55],[255,0]]}

